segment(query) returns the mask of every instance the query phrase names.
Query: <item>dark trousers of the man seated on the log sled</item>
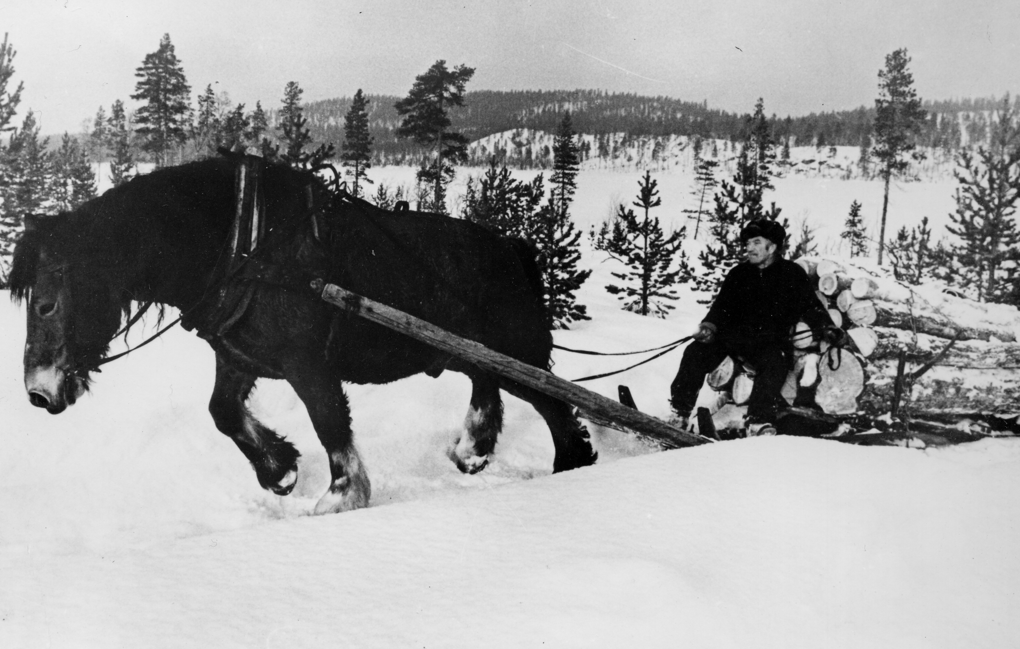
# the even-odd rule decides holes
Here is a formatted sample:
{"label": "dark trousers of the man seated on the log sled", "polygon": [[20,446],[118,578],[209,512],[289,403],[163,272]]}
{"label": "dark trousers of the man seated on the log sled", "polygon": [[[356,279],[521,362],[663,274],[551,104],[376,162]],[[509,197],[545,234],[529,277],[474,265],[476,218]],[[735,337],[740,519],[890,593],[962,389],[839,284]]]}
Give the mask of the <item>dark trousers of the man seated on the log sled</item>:
{"label": "dark trousers of the man seated on the log sled", "polygon": [[726,356],[746,361],[755,368],[755,386],[748,401],[748,416],[773,421],[782,399],[779,393],[793,359],[789,350],[775,345],[733,348],[720,342],[692,342],[683,350],[680,368],[669,387],[673,409],[682,415],[690,413],[698,401],[705,375],[718,367]]}

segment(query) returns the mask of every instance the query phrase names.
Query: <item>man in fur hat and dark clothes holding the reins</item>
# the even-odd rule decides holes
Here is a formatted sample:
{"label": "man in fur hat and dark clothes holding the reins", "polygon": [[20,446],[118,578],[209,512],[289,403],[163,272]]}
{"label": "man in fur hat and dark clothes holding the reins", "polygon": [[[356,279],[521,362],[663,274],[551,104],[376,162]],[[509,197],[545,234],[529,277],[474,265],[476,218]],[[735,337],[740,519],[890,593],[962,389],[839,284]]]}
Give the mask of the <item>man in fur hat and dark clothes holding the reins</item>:
{"label": "man in fur hat and dark clothes holding the reins", "polygon": [[747,261],[723,280],[670,386],[681,428],[686,428],[705,375],[731,356],[756,372],[748,435],[774,435],[779,393],[793,364],[792,328],[804,320],[830,343],[842,341],[843,332],[831,326],[804,268],[780,256],[785,240],[785,229],[767,218],[752,220],[741,231]]}

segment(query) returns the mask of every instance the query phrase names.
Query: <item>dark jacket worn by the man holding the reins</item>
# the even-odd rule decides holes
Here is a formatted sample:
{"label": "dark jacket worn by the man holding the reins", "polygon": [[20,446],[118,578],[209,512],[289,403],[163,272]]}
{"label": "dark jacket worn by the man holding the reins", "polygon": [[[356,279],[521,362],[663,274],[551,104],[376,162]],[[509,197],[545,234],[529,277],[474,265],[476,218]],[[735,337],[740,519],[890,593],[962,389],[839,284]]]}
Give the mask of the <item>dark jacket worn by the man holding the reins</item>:
{"label": "dark jacket worn by the man holding the reins", "polygon": [[736,265],[704,319],[715,326],[723,344],[736,347],[788,346],[790,328],[799,320],[816,332],[832,323],[808,273],[781,258],[764,269],[748,262]]}

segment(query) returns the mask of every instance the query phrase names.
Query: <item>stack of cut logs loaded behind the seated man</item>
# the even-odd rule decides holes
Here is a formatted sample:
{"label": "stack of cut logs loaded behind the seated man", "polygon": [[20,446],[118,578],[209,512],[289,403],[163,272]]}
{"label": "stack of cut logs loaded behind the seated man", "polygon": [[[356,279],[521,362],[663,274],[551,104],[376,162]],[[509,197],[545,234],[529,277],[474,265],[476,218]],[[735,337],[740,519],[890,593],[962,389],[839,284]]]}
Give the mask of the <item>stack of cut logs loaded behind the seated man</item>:
{"label": "stack of cut logs loaded behind the seated man", "polygon": [[[817,283],[818,299],[848,341],[842,349],[830,349],[819,342],[818,332],[798,323],[796,365],[782,391],[788,403],[813,401],[829,414],[864,406],[873,412],[896,410],[894,399],[925,410],[1017,408],[1020,312],[1015,308],[941,294],[933,303],[922,297],[930,296],[931,287],[919,292],[829,259],[802,257],[797,263]],[[996,316],[986,316],[992,308]],[[967,316],[960,318],[961,312]],[[727,359],[708,384],[742,404],[750,396],[753,372],[742,372]]]}

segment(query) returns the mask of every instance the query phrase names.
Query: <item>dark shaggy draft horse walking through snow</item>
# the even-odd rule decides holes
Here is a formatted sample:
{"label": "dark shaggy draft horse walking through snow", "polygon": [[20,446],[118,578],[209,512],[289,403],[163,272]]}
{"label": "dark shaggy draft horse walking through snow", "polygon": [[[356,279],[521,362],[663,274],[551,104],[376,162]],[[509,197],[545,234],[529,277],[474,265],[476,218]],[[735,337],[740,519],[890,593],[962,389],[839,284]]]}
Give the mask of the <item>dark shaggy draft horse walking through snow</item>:
{"label": "dark shaggy draft horse walking through snow", "polygon": [[[27,217],[10,285],[14,299],[29,300],[24,382],[34,405],[56,414],[74,403],[133,300],[176,307],[187,324],[210,291],[221,288],[214,268],[234,223],[235,170],[236,160],[225,158],[163,168],[73,211]],[[541,280],[523,242],[447,216],[338,201],[312,173],[285,165],[267,165],[262,178],[272,245],[261,261],[268,267],[292,279],[319,277],[549,367],[552,337]],[[263,488],[290,493],[299,454],[246,407],[259,377],[293,386],[325,448],[333,482],[316,513],[369,500],[344,382],[382,384],[444,369],[466,375],[470,408],[451,450],[463,471],[480,470],[493,452],[502,428],[501,388],[546,419],[554,471],[596,460],[588,432],[562,401],[342,312],[307,282],[235,280],[227,293],[240,291],[246,300],[236,320],[228,328],[192,327],[216,353],[209,412]]]}

